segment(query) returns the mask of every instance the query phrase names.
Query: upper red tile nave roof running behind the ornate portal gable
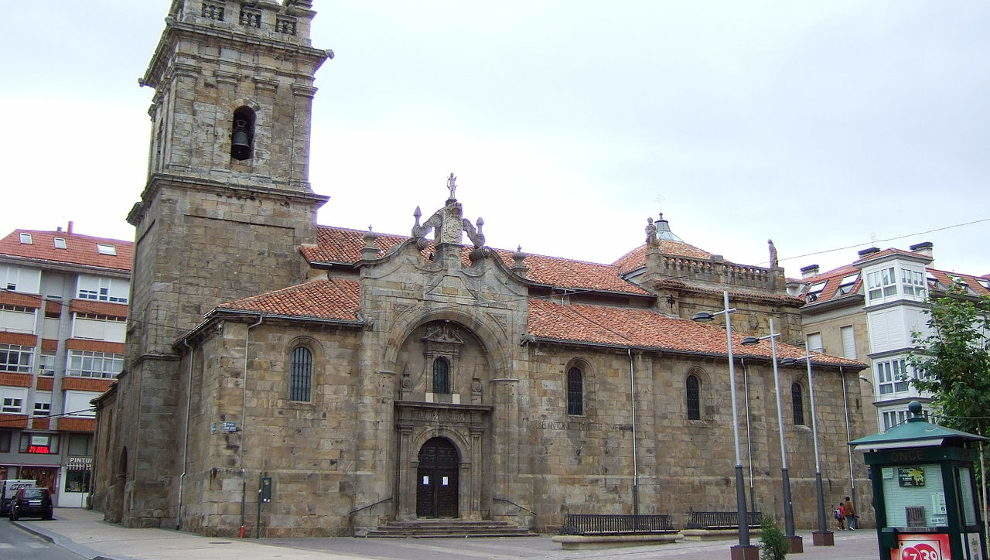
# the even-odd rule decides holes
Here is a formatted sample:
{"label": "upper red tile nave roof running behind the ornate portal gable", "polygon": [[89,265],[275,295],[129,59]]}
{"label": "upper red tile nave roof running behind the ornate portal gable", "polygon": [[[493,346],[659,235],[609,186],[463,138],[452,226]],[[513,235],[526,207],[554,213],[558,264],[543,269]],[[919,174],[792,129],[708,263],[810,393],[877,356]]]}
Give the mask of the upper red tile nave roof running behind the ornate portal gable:
{"label": "upper red tile nave roof running behind the ornate portal gable", "polygon": [[[362,237],[365,232],[356,229],[319,226],[316,232],[316,246],[300,248],[310,262],[354,263],[361,260]],[[402,235],[378,234],[377,244],[382,253],[391,250],[409,239]],[[429,252],[427,249],[426,252]],[[468,261],[470,247],[465,247],[461,260]],[[495,249],[506,267],[512,266],[512,251]],[[649,295],[639,286],[623,280],[619,267],[546,255],[526,254],[525,264],[529,267],[527,277],[537,284],[586,290],[601,290],[626,294]]]}

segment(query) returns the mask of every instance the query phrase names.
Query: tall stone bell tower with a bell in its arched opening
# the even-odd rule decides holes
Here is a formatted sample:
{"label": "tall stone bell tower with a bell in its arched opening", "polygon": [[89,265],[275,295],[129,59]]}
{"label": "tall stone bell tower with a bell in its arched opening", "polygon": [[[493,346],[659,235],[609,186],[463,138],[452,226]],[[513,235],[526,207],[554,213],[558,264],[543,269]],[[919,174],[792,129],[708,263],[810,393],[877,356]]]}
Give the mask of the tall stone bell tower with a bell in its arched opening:
{"label": "tall stone bell tower with a bell in its arched opening", "polygon": [[126,459],[112,458],[127,476],[111,520],[177,515],[179,335],[218,303],[305,278],[298,247],[314,242],[328,200],[308,177],[314,76],[333,57],[310,43],[315,15],[312,0],[172,0],[139,80],[155,94],[148,180],[127,216],[137,231],[116,421],[128,428],[113,447]]}

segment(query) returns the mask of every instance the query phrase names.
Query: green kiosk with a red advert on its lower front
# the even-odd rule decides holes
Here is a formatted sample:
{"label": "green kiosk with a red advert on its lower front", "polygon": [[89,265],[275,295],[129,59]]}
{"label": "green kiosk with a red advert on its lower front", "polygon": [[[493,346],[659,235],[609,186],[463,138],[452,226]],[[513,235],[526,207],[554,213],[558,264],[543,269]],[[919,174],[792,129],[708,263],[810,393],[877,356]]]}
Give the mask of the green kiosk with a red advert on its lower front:
{"label": "green kiosk with a red advert on its lower front", "polygon": [[866,452],[881,560],[983,560],[986,535],[970,444],[987,438],[926,421],[921,403],[886,432],[849,442]]}

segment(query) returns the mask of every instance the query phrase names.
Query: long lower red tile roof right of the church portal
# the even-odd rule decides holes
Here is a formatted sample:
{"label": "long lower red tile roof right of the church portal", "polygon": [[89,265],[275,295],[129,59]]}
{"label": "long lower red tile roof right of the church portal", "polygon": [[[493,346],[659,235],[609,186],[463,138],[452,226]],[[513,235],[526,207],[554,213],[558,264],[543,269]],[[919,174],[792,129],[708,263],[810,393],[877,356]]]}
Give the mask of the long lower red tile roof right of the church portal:
{"label": "long lower red tile roof right of the church portal", "polygon": [[[725,355],[725,330],[687,319],[673,319],[648,309],[599,305],[561,305],[529,300],[527,333],[557,341],[587,342],[616,346],[657,348],[672,352]],[[741,346],[742,335],[734,335],[733,351],[740,357],[770,357],[769,341]],[[778,358],[800,358],[804,349],[777,345]],[[812,363],[863,367],[854,360],[815,354]]]}

